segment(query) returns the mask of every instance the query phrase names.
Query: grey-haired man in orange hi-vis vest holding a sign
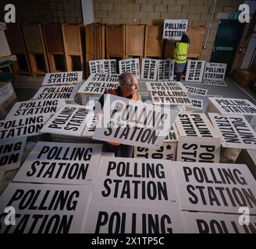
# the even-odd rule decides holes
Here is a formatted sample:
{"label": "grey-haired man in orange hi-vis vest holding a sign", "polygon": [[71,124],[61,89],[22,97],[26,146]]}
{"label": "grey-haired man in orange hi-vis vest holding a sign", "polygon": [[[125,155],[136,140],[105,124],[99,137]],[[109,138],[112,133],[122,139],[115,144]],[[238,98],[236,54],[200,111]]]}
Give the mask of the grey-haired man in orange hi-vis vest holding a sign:
{"label": "grey-haired man in orange hi-vis vest holding a sign", "polygon": [[[126,99],[130,100],[141,100],[141,96],[139,93],[138,82],[135,77],[130,72],[123,72],[119,75],[119,87],[116,89],[108,89],[104,94],[112,94],[116,96],[122,96]],[[104,104],[104,94],[99,99],[99,103],[101,103],[101,107]],[[122,157],[132,157],[134,146],[123,145],[117,142],[105,142],[103,146],[103,151],[114,153],[115,156],[118,155],[120,149],[120,156]]]}

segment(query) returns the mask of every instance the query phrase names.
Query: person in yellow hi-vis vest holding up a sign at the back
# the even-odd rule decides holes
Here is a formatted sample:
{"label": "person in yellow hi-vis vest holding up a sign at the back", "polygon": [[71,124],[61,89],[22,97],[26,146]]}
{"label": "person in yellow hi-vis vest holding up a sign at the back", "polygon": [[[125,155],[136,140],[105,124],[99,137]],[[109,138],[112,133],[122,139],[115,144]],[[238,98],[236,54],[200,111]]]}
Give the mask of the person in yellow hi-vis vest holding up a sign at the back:
{"label": "person in yellow hi-vis vest holding up a sign at the back", "polygon": [[176,41],[175,43],[172,40],[168,41],[170,44],[175,44],[174,74],[176,75],[176,80],[180,81],[187,66],[187,51],[190,46],[190,38],[186,33],[183,33],[180,41]]}

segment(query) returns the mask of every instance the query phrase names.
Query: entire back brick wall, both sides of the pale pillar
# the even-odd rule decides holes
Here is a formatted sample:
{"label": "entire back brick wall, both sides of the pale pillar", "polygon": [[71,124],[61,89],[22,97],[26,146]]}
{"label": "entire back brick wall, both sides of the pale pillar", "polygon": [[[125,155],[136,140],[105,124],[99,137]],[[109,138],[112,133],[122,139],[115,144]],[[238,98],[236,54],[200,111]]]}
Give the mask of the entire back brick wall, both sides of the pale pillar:
{"label": "entire back brick wall, both sides of the pale pillar", "polygon": [[[215,15],[208,37],[206,49],[201,59],[209,61],[212,46],[218,30],[218,12],[237,12],[243,0],[218,0]],[[0,10],[5,3],[16,5],[17,21],[81,23],[82,10],[80,0],[1,0]],[[94,22],[109,24],[155,24],[163,19],[188,19],[190,26],[206,26],[212,16],[214,0],[93,0]],[[0,12],[2,14],[2,12]],[[3,20],[3,15],[0,15]],[[243,33],[241,42],[249,25]],[[207,31],[207,30],[206,30]],[[240,67],[244,54],[236,54],[234,67]]]}

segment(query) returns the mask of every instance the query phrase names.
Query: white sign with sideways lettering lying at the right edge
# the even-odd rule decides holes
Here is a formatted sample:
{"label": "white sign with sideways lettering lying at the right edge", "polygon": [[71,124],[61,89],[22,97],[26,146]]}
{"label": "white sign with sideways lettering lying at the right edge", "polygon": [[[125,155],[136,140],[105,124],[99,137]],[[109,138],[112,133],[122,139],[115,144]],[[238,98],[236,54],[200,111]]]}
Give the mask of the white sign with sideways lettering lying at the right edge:
{"label": "white sign with sideways lettering lying at the right edge", "polygon": [[243,115],[208,115],[222,138],[222,147],[256,149],[256,133]]}

